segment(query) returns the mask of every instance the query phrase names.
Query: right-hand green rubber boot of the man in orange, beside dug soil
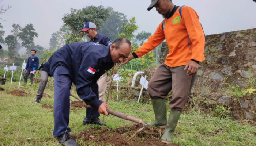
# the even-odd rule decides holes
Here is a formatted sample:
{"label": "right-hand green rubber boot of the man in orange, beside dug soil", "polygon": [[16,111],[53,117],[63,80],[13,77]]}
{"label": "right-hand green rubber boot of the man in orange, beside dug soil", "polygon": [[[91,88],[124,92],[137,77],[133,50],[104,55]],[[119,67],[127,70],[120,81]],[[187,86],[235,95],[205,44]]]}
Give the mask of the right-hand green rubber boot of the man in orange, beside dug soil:
{"label": "right-hand green rubber boot of the man in orange, beside dug soil", "polygon": [[180,119],[180,115],[181,112],[171,109],[168,123],[165,127],[165,132],[161,137],[162,143],[170,144],[172,142],[173,132],[177,126],[178,120]]}

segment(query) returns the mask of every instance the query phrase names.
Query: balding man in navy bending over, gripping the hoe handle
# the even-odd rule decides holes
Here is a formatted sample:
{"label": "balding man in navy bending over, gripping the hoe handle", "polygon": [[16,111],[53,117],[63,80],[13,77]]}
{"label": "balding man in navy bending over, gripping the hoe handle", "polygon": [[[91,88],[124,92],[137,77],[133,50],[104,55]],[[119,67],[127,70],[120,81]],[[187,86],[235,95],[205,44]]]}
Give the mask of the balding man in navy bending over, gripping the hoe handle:
{"label": "balding man in navy bending over, gripping the hoe handle", "polygon": [[77,146],[71,137],[69,124],[69,96],[72,83],[78,96],[99,113],[108,115],[109,106],[100,101],[97,80],[115,63],[128,58],[131,42],[125,38],[116,39],[112,45],[104,46],[92,42],[66,44],[49,59],[50,74],[54,77],[54,130],[61,145]]}

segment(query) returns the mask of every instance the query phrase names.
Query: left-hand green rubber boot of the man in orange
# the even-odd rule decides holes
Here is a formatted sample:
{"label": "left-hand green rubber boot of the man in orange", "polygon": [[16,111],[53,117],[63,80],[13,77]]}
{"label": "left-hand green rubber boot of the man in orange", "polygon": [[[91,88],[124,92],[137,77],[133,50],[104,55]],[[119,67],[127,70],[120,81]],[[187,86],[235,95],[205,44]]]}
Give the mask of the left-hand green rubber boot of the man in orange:
{"label": "left-hand green rubber boot of the man in orange", "polygon": [[167,124],[165,99],[159,98],[152,99],[151,101],[155,113],[155,120],[149,125],[164,128]]}

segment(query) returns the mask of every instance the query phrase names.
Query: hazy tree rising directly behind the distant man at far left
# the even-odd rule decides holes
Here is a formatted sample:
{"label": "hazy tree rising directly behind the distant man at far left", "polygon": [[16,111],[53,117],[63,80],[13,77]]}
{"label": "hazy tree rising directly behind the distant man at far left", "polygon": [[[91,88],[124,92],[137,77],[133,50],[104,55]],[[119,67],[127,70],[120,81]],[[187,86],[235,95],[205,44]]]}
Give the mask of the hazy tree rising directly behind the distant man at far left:
{"label": "hazy tree rising directly behind the distant man at far left", "polygon": [[31,51],[31,45],[34,45],[34,38],[38,37],[37,32],[33,27],[33,24],[27,24],[24,28],[22,28],[19,33],[19,38],[21,40],[22,47],[27,48],[27,53],[29,54]]}

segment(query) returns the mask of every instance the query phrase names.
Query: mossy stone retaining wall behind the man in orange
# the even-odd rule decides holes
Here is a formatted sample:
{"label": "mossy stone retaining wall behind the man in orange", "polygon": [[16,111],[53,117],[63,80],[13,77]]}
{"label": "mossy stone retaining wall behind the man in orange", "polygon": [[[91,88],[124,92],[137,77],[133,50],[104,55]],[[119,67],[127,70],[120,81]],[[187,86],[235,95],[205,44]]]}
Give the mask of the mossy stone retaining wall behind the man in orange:
{"label": "mossy stone retaining wall behind the man in orange", "polygon": [[[164,42],[161,63],[168,53]],[[208,35],[204,55],[206,61],[200,63],[192,92],[207,102],[232,106],[234,116],[255,120],[256,94],[246,94],[238,101],[231,91],[256,88],[256,29]],[[236,85],[239,87],[234,89]]]}

